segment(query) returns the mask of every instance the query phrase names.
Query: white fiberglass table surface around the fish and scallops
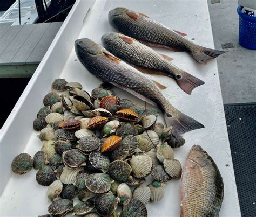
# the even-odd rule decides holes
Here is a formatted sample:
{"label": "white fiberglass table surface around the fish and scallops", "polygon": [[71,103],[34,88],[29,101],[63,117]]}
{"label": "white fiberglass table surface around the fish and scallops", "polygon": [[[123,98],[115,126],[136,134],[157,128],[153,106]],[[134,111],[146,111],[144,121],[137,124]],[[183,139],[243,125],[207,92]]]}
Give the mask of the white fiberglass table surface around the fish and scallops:
{"label": "white fiberglass table surface around the fish and scallops", "polygon": [[[104,33],[115,31],[107,20],[110,9],[124,6],[143,12],[171,29],[185,32],[187,39],[194,38],[194,42],[199,45],[214,47],[206,0],[96,0],[93,3],[93,0],[78,0],[73,6],[1,130],[1,216],[37,216],[47,213],[47,187],[36,183],[36,170],[32,169],[22,176],[12,174],[11,161],[18,153],[27,152],[33,156],[40,149],[41,141],[36,137],[38,133],[33,131],[32,122],[42,107],[43,97],[49,92],[53,79],[79,81],[88,92],[101,83],[77,61],[73,43],[77,38],[90,38],[100,43]],[[87,13],[90,7],[91,10]],[[163,76],[154,78],[168,87],[163,93],[176,108],[205,125],[204,129],[184,135],[186,143],[174,150],[175,158],[184,165],[191,146],[200,144],[215,160],[224,179],[225,194],[220,216],[240,216],[217,62],[210,60],[207,65],[201,65],[185,52],[161,52],[170,55],[174,59],[173,64],[205,81],[205,85],[187,95],[172,79]],[[123,90],[114,88],[114,93],[144,105],[143,101]],[[158,121],[163,121],[161,116]],[[172,180],[165,186],[163,200],[157,204],[148,204],[147,209],[149,216],[179,216],[179,205],[180,180]]]}

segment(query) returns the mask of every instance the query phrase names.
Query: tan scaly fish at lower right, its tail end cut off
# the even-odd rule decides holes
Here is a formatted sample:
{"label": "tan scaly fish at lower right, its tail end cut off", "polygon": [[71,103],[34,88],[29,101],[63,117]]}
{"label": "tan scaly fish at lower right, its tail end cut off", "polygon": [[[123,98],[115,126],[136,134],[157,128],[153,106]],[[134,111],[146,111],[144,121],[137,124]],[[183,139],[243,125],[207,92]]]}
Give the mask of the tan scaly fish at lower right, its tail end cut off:
{"label": "tan scaly fish at lower right, its tail end cut off", "polygon": [[223,196],[217,165],[200,145],[193,145],[181,176],[180,216],[218,216]]}

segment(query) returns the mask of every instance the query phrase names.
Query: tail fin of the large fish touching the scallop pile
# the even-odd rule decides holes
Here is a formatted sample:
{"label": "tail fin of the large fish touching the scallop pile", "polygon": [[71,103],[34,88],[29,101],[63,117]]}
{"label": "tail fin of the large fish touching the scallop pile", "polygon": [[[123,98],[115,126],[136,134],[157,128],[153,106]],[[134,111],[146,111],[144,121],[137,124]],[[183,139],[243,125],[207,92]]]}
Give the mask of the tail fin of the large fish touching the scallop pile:
{"label": "tail fin of the large fish touching the scallop pile", "polygon": [[175,137],[184,134],[185,132],[204,128],[204,125],[181,113],[176,108],[170,108],[170,110],[165,110],[164,120],[167,127],[172,126],[172,135]]}

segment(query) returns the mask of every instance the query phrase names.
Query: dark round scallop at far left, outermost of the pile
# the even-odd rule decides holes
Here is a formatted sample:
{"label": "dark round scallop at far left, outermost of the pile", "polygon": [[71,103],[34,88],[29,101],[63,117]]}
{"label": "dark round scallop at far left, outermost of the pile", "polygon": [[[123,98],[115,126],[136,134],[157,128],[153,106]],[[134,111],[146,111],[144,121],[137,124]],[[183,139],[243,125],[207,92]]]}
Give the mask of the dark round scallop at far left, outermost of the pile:
{"label": "dark round scallop at far left, outermost of the pile", "polygon": [[29,172],[33,167],[33,159],[28,153],[20,153],[11,163],[12,172],[16,174],[24,174]]}

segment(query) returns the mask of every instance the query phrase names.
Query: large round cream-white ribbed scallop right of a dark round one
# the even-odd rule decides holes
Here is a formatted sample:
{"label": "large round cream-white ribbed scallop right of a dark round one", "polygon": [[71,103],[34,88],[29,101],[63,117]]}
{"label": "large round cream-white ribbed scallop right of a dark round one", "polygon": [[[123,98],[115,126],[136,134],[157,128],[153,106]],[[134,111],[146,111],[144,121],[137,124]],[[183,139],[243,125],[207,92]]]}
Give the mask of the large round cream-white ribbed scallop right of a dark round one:
{"label": "large round cream-white ribbed scallop right of a dark round one", "polygon": [[146,177],[152,168],[152,160],[145,153],[133,155],[129,164],[132,167],[133,176],[136,178]]}

